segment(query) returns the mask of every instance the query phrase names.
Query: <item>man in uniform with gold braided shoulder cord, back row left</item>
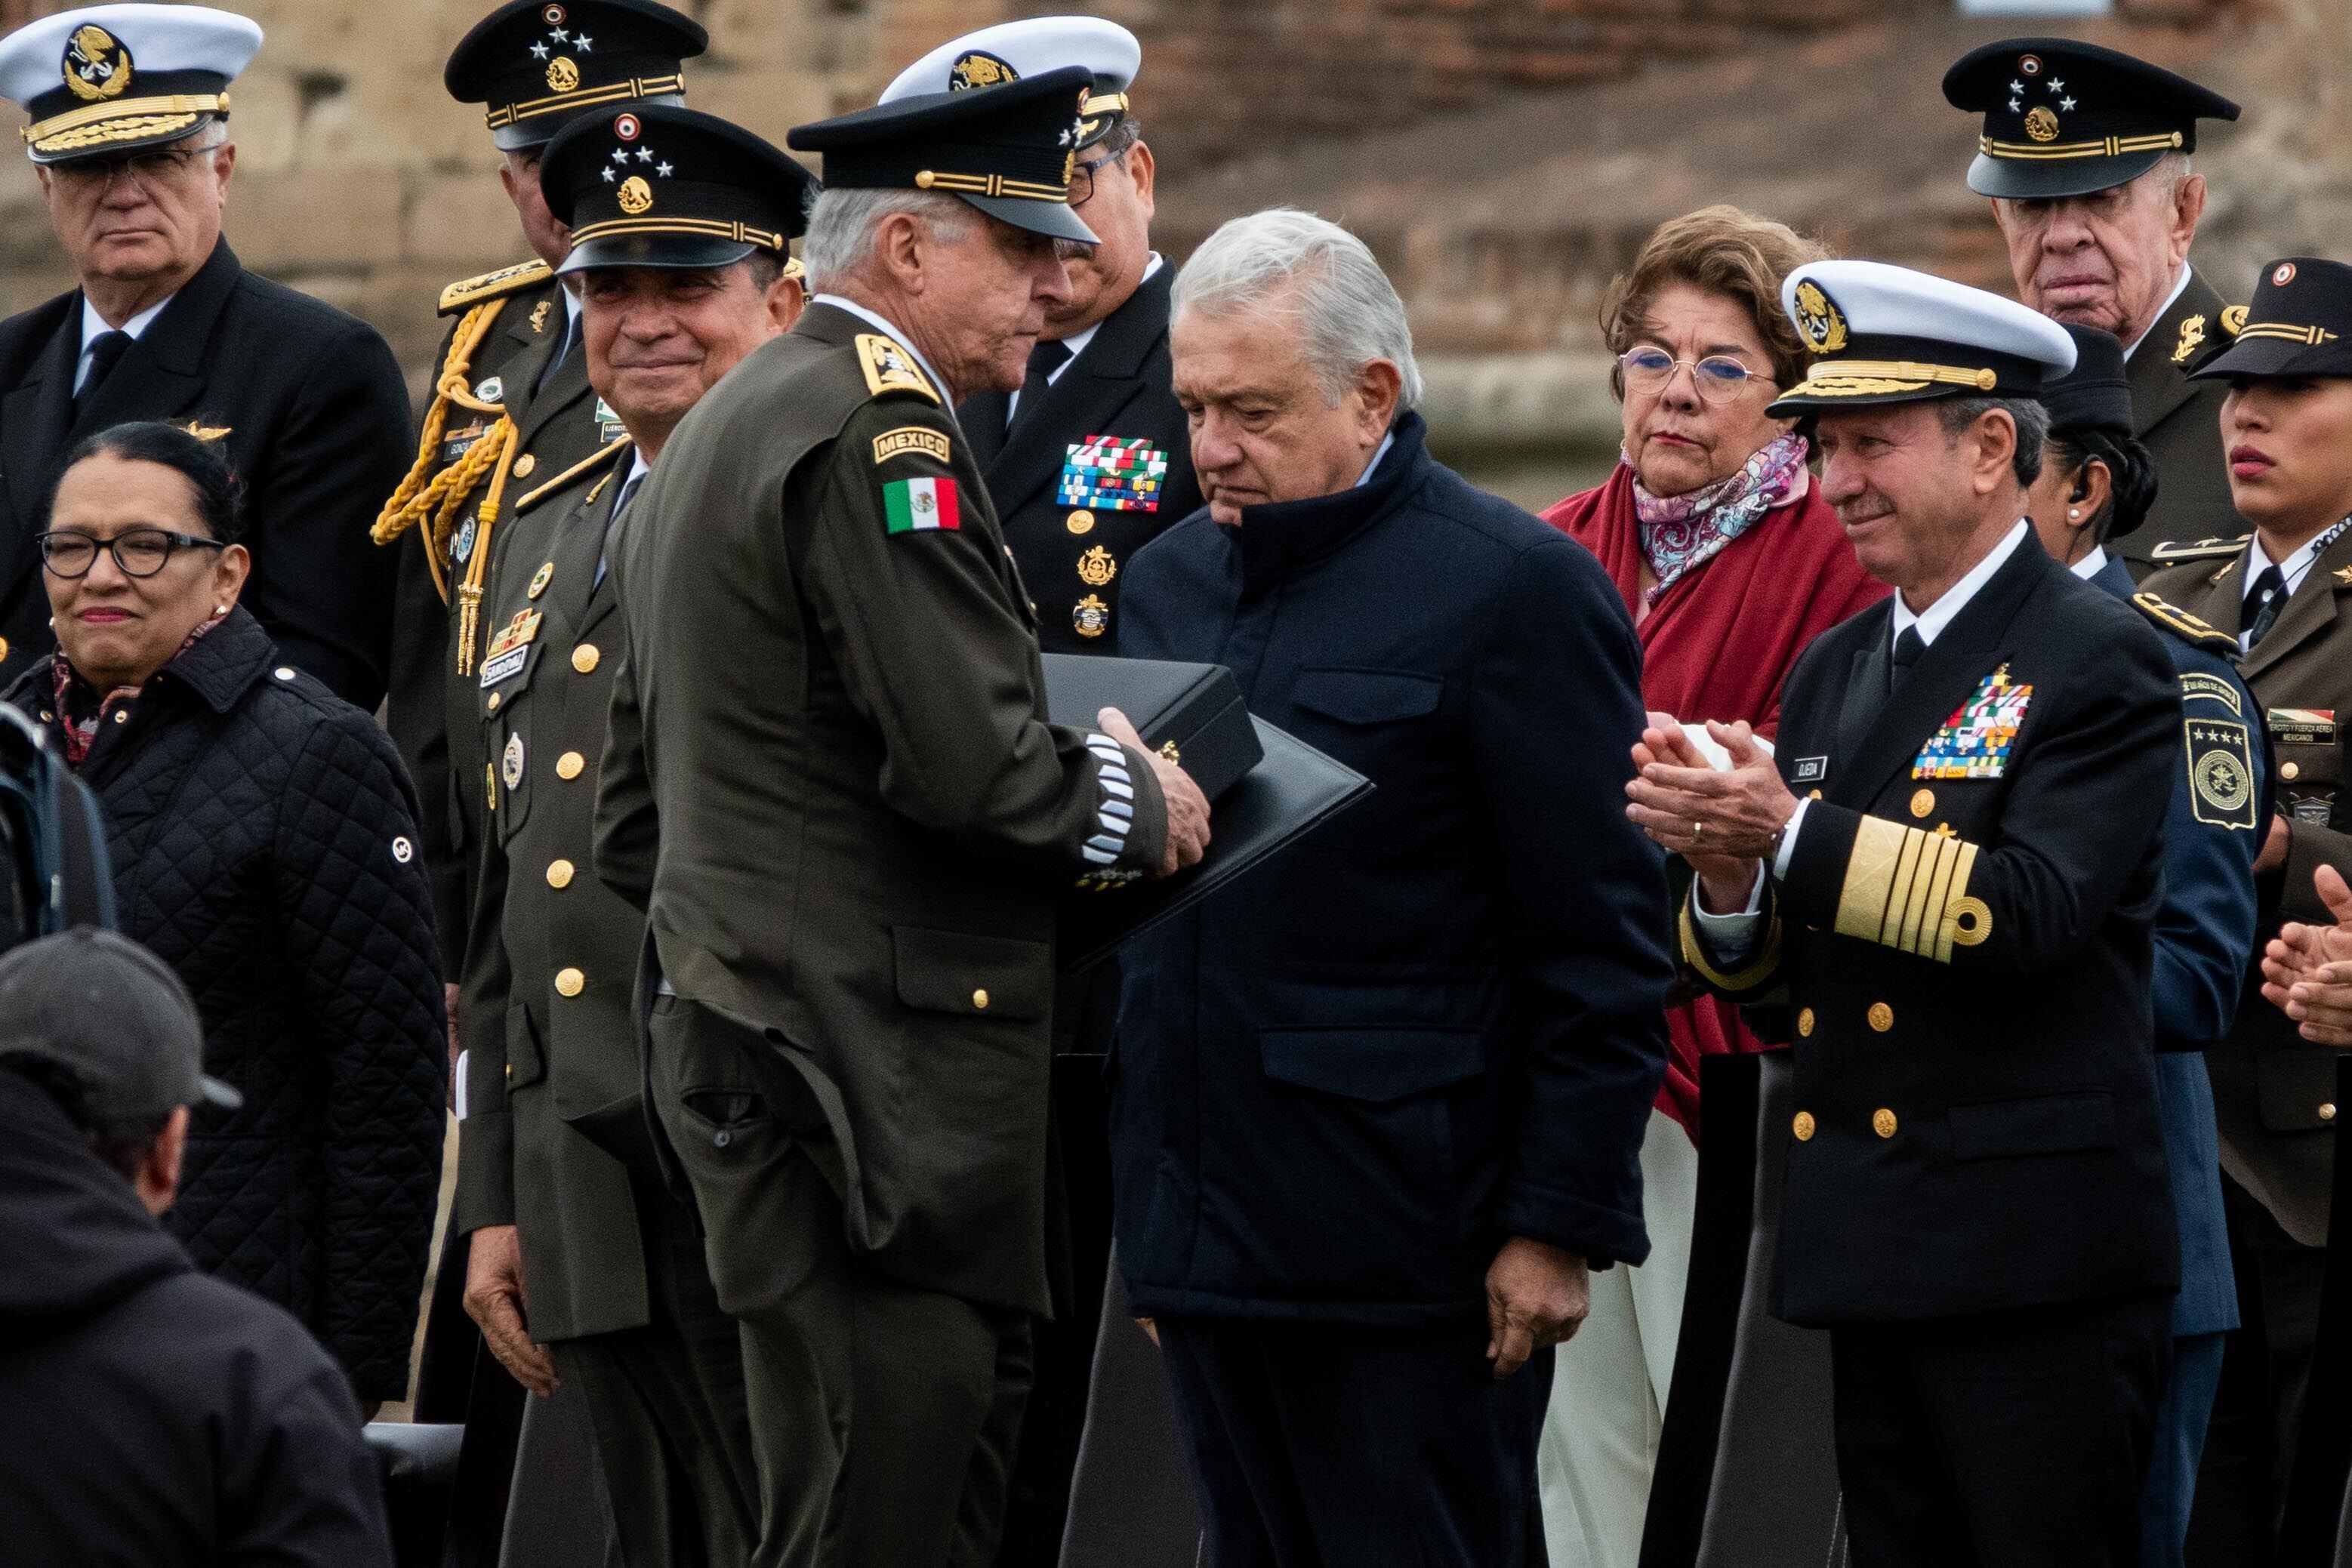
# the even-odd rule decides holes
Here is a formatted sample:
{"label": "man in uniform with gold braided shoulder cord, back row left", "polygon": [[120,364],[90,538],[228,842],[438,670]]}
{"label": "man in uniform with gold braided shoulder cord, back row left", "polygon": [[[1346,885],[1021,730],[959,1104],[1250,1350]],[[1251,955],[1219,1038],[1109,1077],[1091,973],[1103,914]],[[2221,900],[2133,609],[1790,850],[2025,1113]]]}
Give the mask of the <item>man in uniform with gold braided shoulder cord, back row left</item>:
{"label": "man in uniform with gold braided shoulder cord, back row left", "polygon": [[[499,524],[536,484],[621,437],[588,390],[579,301],[557,284],[572,240],[539,193],[539,158],[583,113],[630,101],[684,101],[682,61],[710,35],[654,0],[513,0],[456,49],[442,82],[482,103],[499,181],[534,261],[442,289],[454,317],[433,355],[433,402],[416,463],[376,517],[376,543],[400,550],[386,719],[423,802],[426,860],[442,961],[456,976],[473,910],[485,759],[475,748],[473,677]],[[456,1018],[452,1006],[452,1018]]]}

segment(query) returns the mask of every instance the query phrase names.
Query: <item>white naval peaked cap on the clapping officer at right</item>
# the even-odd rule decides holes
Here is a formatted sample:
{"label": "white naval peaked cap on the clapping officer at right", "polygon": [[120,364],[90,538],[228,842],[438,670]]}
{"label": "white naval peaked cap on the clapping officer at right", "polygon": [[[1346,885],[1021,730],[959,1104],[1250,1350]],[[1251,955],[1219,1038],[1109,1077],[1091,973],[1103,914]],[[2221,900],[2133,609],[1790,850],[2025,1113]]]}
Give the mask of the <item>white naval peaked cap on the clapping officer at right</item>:
{"label": "white naval peaked cap on the clapping officer at right", "polygon": [[1884,261],[1813,261],[1780,284],[1813,369],[1773,418],[1924,397],[2039,397],[2074,339],[2039,310]]}

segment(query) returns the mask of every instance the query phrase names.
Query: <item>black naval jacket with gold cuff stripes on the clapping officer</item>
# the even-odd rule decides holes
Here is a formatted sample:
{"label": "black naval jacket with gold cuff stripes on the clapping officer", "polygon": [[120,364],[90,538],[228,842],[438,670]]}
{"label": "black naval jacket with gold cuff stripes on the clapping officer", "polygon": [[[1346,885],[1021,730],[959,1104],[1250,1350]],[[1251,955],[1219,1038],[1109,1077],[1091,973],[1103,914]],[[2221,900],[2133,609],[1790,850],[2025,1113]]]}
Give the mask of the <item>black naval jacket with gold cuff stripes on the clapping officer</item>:
{"label": "black naval jacket with gold cuff stripes on the clapping officer", "polygon": [[[2173,1291],[2150,1020],[2171,658],[2032,531],[1886,696],[1891,607],[1790,670],[1776,757],[1813,799],[1752,957],[1719,966],[1682,917],[1700,978],[1743,999],[1785,980],[1795,1013],[1771,1312],[1889,1324]],[[2020,710],[1997,776],[1919,776],[1931,748],[1966,748],[1952,731],[1997,750]]]}

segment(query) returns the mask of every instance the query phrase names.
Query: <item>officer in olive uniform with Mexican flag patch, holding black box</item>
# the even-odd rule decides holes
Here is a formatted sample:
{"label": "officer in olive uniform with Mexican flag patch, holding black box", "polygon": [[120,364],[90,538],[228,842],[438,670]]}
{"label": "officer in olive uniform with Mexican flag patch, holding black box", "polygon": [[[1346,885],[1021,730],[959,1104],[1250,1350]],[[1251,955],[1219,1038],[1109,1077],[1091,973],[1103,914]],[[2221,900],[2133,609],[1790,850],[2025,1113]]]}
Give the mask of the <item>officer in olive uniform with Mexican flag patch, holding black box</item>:
{"label": "officer in olive uniform with Mexican flag patch, holding black box", "polygon": [[[826,155],[818,294],[696,404],[609,548],[597,875],[649,907],[649,1086],[741,1326],[757,1563],[990,1561],[1047,1307],[1056,905],[1207,844],[1124,717],[1047,722],[950,414],[1018,381],[1056,247],[1091,240],[1087,85],[793,132]],[[661,214],[656,186],[609,223]]]}

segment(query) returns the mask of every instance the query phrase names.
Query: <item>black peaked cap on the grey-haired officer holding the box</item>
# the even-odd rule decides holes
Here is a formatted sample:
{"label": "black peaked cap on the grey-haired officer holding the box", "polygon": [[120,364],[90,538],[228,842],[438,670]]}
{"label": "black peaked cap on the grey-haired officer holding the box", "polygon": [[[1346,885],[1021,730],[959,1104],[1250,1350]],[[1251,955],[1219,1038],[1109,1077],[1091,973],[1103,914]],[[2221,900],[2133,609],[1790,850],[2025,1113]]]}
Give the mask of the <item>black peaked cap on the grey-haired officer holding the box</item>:
{"label": "black peaked cap on the grey-haired officer holding the box", "polygon": [[1014,228],[1096,244],[1070,212],[1080,113],[1094,73],[1065,66],[988,92],[929,92],[800,125],[797,153],[826,155],[833,190],[938,190]]}

